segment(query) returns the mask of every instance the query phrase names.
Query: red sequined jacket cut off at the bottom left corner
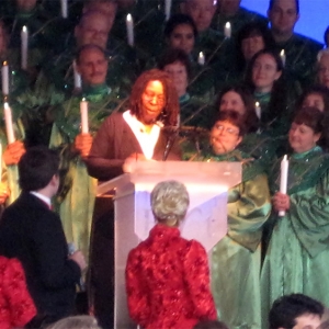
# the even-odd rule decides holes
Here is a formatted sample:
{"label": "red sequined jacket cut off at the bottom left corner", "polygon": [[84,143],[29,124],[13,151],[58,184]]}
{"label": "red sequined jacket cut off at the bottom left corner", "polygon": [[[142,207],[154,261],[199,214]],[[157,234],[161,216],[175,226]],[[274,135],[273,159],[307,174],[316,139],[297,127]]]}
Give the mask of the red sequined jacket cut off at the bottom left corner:
{"label": "red sequined jacket cut off at the bottom left corner", "polygon": [[21,263],[0,256],[0,329],[24,327],[35,315]]}

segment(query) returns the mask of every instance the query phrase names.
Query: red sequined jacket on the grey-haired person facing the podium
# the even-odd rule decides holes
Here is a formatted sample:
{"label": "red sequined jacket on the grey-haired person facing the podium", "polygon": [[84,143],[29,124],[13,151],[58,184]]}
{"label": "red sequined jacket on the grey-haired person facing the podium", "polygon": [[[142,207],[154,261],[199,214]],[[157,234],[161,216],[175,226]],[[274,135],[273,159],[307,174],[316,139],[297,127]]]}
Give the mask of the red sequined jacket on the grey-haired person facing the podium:
{"label": "red sequined jacket on the grey-haired person facing the podium", "polygon": [[174,227],[156,225],[129,252],[126,290],[131,317],[145,329],[189,329],[216,319],[206,252]]}

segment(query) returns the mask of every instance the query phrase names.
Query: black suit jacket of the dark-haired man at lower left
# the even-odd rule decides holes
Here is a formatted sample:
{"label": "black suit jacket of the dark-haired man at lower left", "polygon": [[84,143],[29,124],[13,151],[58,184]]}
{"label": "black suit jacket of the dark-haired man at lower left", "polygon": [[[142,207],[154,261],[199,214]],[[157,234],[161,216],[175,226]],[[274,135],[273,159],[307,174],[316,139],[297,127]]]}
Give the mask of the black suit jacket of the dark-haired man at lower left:
{"label": "black suit jacket of the dark-haired man at lower left", "polygon": [[68,259],[59,216],[35,195],[22,192],[3,212],[0,254],[21,261],[30,294],[48,321],[72,313],[81,271]]}

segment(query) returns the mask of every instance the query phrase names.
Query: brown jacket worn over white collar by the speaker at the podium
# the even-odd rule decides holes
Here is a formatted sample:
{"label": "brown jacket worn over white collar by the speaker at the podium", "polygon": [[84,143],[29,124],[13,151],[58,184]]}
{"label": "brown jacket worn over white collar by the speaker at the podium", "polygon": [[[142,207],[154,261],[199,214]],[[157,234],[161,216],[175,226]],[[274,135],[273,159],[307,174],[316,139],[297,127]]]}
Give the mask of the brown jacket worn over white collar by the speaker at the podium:
{"label": "brown jacket worn over white collar by the speaker at the podium", "polygon": [[[168,136],[160,132],[152,159],[162,160]],[[122,166],[132,154],[143,154],[140,145],[123,118],[122,113],[110,115],[100,127],[87,160],[90,175],[105,181],[123,173]],[[169,152],[168,160],[181,160],[177,143]]]}

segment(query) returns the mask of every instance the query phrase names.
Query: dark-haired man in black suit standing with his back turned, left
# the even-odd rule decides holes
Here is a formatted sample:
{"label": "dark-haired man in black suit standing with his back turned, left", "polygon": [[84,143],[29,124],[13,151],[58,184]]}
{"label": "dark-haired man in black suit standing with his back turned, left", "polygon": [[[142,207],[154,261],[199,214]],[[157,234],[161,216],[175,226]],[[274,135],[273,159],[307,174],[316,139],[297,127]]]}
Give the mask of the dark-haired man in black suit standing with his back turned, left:
{"label": "dark-haired man in black suit standing with his back turned, left", "polygon": [[68,256],[60,218],[50,209],[59,185],[58,168],[55,151],[27,150],[19,162],[22,193],[0,223],[0,254],[22,262],[27,288],[45,322],[72,314],[76,284],[86,268],[81,251]]}

